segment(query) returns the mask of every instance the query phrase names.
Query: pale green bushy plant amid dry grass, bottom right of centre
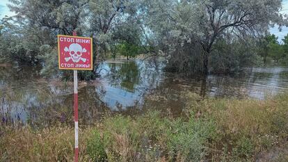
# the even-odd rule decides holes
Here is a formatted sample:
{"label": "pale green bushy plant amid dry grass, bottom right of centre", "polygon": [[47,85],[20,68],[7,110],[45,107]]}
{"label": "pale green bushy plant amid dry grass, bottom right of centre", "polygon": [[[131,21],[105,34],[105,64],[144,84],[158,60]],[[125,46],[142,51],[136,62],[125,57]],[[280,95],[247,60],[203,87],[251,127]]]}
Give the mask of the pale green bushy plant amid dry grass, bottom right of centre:
{"label": "pale green bushy plant amid dry grass, bottom right of centre", "polygon": [[171,122],[168,151],[172,161],[201,161],[207,155],[207,143],[213,137],[213,122],[191,118],[189,122]]}

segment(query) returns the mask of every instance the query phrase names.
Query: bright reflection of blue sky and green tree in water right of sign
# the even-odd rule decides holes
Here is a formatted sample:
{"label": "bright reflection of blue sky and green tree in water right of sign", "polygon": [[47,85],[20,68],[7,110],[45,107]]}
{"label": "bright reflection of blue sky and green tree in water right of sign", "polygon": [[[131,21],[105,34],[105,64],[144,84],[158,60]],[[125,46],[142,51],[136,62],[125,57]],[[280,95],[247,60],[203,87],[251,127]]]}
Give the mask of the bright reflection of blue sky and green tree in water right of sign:
{"label": "bright reflection of blue sky and green tree in water right of sign", "polygon": [[99,97],[113,111],[125,111],[143,105],[144,95],[156,88],[161,74],[153,72],[141,61],[107,63],[102,74],[102,86],[95,86]]}

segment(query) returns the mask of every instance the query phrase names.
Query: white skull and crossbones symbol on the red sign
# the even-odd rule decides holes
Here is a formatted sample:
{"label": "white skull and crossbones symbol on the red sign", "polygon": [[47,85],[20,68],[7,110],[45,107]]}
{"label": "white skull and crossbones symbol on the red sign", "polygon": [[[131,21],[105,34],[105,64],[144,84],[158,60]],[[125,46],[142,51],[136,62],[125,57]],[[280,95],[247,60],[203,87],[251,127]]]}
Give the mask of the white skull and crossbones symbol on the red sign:
{"label": "white skull and crossbones symbol on the red sign", "polygon": [[70,59],[74,63],[78,63],[79,60],[82,60],[84,63],[86,62],[86,58],[81,58],[82,54],[85,53],[87,50],[85,48],[82,49],[80,44],[72,43],[70,44],[69,48],[64,48],[65,52],[69,52],[70,56],[65,58],[65,61],[68,62]]}

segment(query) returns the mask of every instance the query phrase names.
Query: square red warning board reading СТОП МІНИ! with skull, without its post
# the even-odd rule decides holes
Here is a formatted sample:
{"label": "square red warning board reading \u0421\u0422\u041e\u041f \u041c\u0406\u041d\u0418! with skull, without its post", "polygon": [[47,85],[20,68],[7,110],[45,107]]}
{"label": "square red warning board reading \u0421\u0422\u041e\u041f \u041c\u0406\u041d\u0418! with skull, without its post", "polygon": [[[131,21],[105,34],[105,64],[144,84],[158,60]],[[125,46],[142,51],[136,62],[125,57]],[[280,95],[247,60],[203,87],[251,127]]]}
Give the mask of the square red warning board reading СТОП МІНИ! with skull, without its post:
{"label": "square red warning board reading \u0421\u0422\u041e\u041f \u041c\u0406\u041d\u0418! with skull, without its post", "polygon": [[60,70],[93,70],[92,38],[57,35]]}

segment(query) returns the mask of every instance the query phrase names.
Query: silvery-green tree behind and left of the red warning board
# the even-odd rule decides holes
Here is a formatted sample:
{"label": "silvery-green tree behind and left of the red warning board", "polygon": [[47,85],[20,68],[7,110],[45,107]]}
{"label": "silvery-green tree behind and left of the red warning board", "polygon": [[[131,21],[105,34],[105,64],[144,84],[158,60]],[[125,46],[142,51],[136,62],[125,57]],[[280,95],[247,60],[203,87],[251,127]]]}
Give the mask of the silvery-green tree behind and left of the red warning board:
{"label": "silvery-green tree behind and left of the red warning board", "polygon": [[15,13],[10,18],[17,29],[13,31],[17,42],[10,55],[19,63],[41,62],[42,45],[55,47],[57,34],[71,35],[74,29],[81,34],[85,29],[81,26],[86,15],[86,0],[11,0],[11,3],[8,7]]}

